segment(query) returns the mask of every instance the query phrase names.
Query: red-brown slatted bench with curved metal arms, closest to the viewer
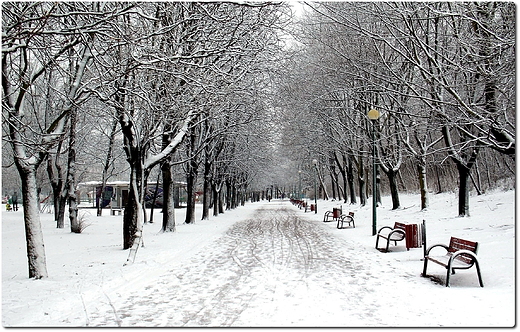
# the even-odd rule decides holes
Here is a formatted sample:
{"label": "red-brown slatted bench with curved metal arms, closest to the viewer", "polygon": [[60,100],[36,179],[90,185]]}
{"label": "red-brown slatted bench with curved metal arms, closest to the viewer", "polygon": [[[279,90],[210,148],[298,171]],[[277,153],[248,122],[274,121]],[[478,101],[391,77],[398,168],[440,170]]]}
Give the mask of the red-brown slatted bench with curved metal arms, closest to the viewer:
{"label": "red-brown slatted bench with curved metal arms, closest to the viewer", "polygon": [[[446,254],[444,256],[430,256],[430,251],[433,248],[437,247],[446,249]],[[482,276],[480,275],[480,267],[478,265],[477,260],[477,250],[478,242],[463,240],[456,237],[452,237],[450,239],[449,246],[445,244],[435,244],[429,247],[428,250],[426,250],[426,255],[424,256],[424,268],[422,276],[427,277],[426,268],[428,266],[428,261],[437,263],[446,268],[446,287],[449,287],[450,275],[455,274],[456,269],[466,270],[475,265],[477,269],[477,276],[480,287],[484,287],[484,284],[482,282]]]}

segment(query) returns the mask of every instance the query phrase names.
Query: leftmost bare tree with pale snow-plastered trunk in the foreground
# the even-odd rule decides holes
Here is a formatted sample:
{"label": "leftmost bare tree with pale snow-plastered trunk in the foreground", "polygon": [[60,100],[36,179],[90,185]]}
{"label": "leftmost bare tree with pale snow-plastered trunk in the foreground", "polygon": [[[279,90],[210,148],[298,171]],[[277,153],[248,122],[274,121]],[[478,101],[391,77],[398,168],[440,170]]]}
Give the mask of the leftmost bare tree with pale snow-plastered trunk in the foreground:
{"label": "leftmost bare tree with pale snow-plastered trunk in the foreground", "polygon": [[[16,2],[2,6],[2,115],[22,179],[29,277],[39,279],[47,276],[47,269],[38,215],[36,171],[65,134],[70,113],[81,103],[81,83],[91,58],[89,33],[95,33],[109,14],[100,11],[99,16],[92,16],[88,4],[79,3],[71,7],[58,3]],[[36,98],[34,92],[43,74],[68,63],[66,58],[70,52],[78,61],[72,72],[65,70],[72,80],[70,86],[64,88],[63,107],[42,127],[35,122],[41,115],[40,110],[31,109],[27,101],[30,97]]]}

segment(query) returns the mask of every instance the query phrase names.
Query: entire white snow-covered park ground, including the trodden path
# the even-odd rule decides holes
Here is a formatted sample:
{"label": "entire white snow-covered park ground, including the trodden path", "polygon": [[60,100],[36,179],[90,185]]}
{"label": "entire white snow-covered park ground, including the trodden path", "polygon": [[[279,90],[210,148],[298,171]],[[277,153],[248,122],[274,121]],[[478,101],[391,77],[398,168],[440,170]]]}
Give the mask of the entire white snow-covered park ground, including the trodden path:
{"label": "entire white snow-covered park ground, including the trodden path", "polygon": [[[511,327],[515,302],[515,192],[471,197],[471,217],[458,218],[453,193],[390,198],[378,228],[426,220],[428,245],[450,236],[478,241],[484,288],[475,269],[451,287],[422,278],[422,248],[374,248],[370,206],[319,201],[318,214],[288,200],[248,203],[209,221],[160,233],[145,225],[145,247],[123,266],[122,217],[89,217],[83,234],[56,229],[41,216],[49,278],[27,275],[22,212],[2,212],[2,323],[31,326],[340,326]],[[356,228],[336,229],[323,213],[343,206]],[[93,210],[83,210],[95,213]],[[183,220],[184,210],[176,211]],[[429,264],[428,274],[445,278]]]}

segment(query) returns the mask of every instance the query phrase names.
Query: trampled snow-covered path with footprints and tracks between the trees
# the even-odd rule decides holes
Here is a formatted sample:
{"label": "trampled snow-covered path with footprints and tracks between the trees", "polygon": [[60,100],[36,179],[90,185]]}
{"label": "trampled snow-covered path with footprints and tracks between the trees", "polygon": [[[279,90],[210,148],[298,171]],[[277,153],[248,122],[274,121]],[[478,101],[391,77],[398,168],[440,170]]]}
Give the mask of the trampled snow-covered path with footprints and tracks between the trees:
{"label": "trampled snow-covered path with footprints and tracks between the trees", "polygon": [[90,309],[89,326],[384,324],[377,302],[359,306],[380,284],[359,248],[296,212],[262,205],[189,262]]}

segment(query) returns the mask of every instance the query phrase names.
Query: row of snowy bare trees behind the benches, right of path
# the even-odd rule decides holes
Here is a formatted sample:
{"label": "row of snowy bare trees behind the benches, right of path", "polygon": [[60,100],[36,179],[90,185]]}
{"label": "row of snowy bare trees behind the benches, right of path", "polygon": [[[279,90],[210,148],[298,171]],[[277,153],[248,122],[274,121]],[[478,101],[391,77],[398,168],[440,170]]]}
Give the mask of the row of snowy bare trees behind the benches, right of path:
{"label": "row of snowy bare trees behind the benches, right of path", "polygon": [[[482,178],[514,177],[514,4],[311,2],[307,10],[280,107],[287,149],[300,152],[294,169],[312,175],[319,156],[324,198],[330,174],[334,197],[365,204],[372,130],[394,209],[407,183],[427,208],[428,183],[442,190],[456,170],[458,213],[467,215],[471,183],[481,192]],[[374,123],[371,109],[382,114]]]}

